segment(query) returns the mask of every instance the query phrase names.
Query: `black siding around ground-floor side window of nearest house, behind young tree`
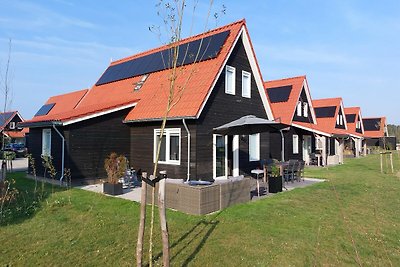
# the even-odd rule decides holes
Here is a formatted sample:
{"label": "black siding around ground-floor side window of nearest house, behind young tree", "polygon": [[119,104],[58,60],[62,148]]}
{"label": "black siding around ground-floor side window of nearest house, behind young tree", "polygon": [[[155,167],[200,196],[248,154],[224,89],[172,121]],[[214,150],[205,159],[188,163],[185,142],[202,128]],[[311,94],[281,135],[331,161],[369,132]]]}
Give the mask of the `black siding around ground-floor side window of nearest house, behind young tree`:
{"label": "black siding around ground-floor side window of nearest house, behind young tree", "polygon": [[[186,121],[190,132],[191,142],[191,169],[190,172],[193,176],[196,174],[196,125],[193,121]],[[153,173],[153,148],[154,148],[154,130],[161,128],[161,121],[159,122],[140,122],[130,123],[130,137],[131,149],[130,159],[131,165],[136,169],[147,171],[149,174]],[[187,177],[187,144],[188,134],[183,126],[182,121],[169,121],[167,122],[166,129],[180,128],[181,129],[181,154],[180,165],[169,165],[159,163],[158,171],[166,170],[168,177],[175,179],[186,179]]]}

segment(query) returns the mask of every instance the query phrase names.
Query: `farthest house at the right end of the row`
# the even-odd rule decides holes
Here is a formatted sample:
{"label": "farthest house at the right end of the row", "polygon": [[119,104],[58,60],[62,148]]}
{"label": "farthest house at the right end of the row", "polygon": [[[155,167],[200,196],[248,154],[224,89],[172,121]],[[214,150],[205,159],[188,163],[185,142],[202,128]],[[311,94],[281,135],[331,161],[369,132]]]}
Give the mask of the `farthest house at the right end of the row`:
{"label": "farthest house at the right end of the row", "polygon": [[386,117],[364,118],[363,125],[367,146],[395,149],[396,138],[388,134]]}

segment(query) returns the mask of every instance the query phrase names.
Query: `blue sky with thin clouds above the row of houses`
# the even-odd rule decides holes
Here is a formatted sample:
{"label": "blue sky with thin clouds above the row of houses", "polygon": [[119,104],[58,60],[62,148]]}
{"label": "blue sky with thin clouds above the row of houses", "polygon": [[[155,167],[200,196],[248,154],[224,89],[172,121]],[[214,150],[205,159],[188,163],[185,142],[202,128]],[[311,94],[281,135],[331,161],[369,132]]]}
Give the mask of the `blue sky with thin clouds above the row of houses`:
{"label": "blue sky with thin clouds above the row of houses", "polygon": [[[52,95],[91,87],[111,59],[162,44],[158,1],[1,0],[0,67],[12,39],[12,107],[31,118]],[[189,1],[192,3],[192,1]],[[400,1],[214,1],[214,28],[245,18],[265,80],[306,74],[314,99],[343,97],[364,117],[400,124]],[[198,1],[190,30],[205,29]],[[0,101],[1,102],[1,101]],[[1,103],[0,103],[1,104]]]}

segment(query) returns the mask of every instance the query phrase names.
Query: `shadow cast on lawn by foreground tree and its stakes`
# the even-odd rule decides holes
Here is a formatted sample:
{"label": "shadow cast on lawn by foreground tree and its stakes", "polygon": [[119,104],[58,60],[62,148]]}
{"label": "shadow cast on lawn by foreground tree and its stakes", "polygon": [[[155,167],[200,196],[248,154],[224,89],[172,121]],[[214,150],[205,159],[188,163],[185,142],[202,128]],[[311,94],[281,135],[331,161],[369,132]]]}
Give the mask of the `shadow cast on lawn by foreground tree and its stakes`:
{"label": "shadow cast on lawn by foreground tree and its stakes", "polygon": [[[219,212],[209,220],[202,219],[199,222],[197,222],[192,228],[190,228],[188,231],[186,231],[178,240],[176,240],[174,243],[172,243],[169,246],[170,251],[178,246],[181,245],[181,248],[172,255],[170,258],[170,262],[172,262],[174,259],[176,259],[181,253],[185,252],[188,247],[190,247],[191,244],[193,243],[198,243],[191,251],[190,255],[187,256],[187,258],[184,260],[182,263],[182,266],[187,266],[193,259],[196,257],[196,255],[201,251],[201,249],[204,247],[205,243],[207,242],[208,238],[211,236],[211,234],[214,232],[215,228],[219,224],[218,220],[215,220],[220,214],[222,213]],[[160,259],[162,257],[162,253],[159,253],[154,257],[153,260]],[[146,265],[148,266],[148,265]]]}

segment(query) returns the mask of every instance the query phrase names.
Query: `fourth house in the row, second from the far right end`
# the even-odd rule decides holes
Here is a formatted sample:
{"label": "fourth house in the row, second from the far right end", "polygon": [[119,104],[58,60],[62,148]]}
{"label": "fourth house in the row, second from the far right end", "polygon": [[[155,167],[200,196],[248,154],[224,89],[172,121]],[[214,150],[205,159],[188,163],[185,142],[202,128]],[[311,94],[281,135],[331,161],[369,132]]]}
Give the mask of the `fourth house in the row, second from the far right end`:
{"label": "fourth house in the row, second from the far right end", "polygon": [[344,108],[347,121],[347,132],[350,138],[345,142],[345,150],[354,157],[366,154],[364,125],[360,107]]}

